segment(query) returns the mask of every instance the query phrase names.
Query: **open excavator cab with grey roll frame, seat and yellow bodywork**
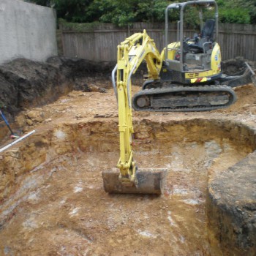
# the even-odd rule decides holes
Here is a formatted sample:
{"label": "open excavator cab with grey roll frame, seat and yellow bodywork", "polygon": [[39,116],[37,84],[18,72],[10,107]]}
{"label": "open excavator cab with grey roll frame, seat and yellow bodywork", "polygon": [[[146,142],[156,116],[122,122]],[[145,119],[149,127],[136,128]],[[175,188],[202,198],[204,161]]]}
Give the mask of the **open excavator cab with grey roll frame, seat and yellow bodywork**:
{"label": "open excavator cab with grey roll frame, seat and yellow bodywork", "polygon": [[[173,31],[170,34],[169,20],[176,12],[178,21],[176,37],[173,37]],[[187,27],[189,25],[186,17],[191,13],[199,28],[197,31]],[[185,33],[184,28],[189,31]],[[215,1],[187,1],[168,5],[165,10],[165,49],[162,51],[165,61],[160,75],[162,80],[189,84],[189,78],[221,76],[217,36],[218,7]],[[170,43],[171,39],[176,42]]]}

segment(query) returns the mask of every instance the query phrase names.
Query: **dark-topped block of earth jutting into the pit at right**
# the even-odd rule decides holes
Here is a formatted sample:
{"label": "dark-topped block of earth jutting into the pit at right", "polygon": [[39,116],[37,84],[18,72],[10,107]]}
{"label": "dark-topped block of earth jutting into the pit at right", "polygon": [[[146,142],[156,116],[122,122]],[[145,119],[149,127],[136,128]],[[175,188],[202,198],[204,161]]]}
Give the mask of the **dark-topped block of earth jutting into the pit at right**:
{"label": "dark-topped block of earth jutting into the pit at right", "polygon": [[208,186],[208,238],[222,255],[256,253],[256,152],[217,174]]}

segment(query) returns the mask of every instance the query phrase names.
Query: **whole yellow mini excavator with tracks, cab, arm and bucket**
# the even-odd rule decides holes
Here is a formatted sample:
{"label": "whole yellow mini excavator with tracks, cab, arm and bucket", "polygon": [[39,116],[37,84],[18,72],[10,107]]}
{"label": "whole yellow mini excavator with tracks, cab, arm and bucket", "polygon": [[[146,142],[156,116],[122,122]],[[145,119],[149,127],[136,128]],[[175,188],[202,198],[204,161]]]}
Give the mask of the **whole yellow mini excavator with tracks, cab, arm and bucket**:
{"label": "whole yellow mini excavator with tracks, cab, arm and bucket", "polygon": [[[184,11],[195,8],[200,33],[184,37]],[[214,18],[203,19],[205,10]],[[178,12],[176,42],[169,43],[169,17]],[[217,43],[218,7],[214,0],[169,4],[165,10],[165,48],[160,54],[146,30],[118,45],[117,64],[112,72],[118,101],[120,159],[117,168],[102,172],[103,185],[110,193],[161,194],[167,170],[138,169],[132,151],[132,108],[143,111],[206,111],[227,108],[236,102],[236,86],[256,86],[255,72],[246,64],[242,74],[222,74]],[[143,61],[148,75],[143,90],[131,97],[131,78]]]}

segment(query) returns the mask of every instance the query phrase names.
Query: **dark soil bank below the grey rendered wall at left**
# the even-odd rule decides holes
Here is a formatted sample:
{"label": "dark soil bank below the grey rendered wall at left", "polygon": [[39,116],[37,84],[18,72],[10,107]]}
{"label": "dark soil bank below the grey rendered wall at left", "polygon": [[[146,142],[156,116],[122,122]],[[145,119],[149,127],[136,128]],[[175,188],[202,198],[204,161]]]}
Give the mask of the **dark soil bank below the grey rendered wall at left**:
{"label": "dark soil bank below the grey rendered wall at left", "polygon": [[73,89],[93,91],[82,79],[108,77],[113,64],[52,57],[15,59],[0,66],[0,108],[12,119],[21,110],[53,102]]}

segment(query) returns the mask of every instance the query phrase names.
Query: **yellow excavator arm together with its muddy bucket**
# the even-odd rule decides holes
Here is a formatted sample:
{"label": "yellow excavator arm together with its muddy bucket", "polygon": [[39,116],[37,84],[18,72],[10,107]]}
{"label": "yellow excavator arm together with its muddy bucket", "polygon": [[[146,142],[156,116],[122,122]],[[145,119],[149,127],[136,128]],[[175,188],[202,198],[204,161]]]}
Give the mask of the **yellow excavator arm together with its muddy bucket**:
{"label": "yellow excavator arm together with its muddy bucket", "polygon": [[102,172],[106,192],[161,194],[164,190],[166,169],[138,168],[133,159],[131,78],[143,60],[146,60],[148,67],[148,78],[159,79],[161,57],[145,30],[143,33],[133,34],[118,45],[112,81],[118,100],[120,159],[117,168]]}

